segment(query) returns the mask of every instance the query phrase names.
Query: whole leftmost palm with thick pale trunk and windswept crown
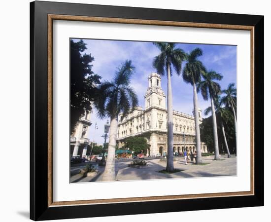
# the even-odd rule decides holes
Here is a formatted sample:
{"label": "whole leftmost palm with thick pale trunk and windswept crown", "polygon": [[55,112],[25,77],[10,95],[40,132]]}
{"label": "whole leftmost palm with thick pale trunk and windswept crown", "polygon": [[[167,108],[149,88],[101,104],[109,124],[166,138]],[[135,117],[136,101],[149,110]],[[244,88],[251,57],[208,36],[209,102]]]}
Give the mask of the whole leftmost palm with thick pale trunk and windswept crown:
{"label": "whole leftmost palm with thick pale trunk and windswept crown", "polygon": [[131,60],[126,60],[116,71],[112,81],[104,81],[98,87],[100,97],[95,102],[98,115],[101,118],[110,118],[109,143],[107,160],[102,175],[102,181],[114,181],[115,174],[115,149],[117,139],[119,113],[126,116],[138,104],[134,89],[130,86],[131,75],[135,67]]}

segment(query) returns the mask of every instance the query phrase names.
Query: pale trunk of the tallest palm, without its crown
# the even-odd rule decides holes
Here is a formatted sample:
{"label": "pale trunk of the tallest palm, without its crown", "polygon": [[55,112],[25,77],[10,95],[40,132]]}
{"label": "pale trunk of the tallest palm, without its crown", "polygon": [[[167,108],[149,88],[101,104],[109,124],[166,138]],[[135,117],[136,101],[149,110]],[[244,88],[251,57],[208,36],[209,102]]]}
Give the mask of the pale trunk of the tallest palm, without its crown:
{"label": "pale trunk of the tallest palm, without its crown", "polygon": [[174,171],[173,166],[173,106],[172,106],[172,89],[171,89],[171,74],[170,65],[168,64],[168,172]]}

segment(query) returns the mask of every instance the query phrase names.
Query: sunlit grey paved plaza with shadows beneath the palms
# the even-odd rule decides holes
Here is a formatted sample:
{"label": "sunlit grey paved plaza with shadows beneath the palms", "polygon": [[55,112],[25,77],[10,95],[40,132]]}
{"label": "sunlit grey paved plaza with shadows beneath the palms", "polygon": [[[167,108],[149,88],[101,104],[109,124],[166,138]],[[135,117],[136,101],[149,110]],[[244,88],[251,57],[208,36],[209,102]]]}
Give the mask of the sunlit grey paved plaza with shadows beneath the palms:
{"label": "sunlit grey paved plaza with shadows beneath the palms", "polygon": [[[199,177],[217,177],[217,176],[236,176],[237,175],[237,157],[233,156],[227,158],[221,156],[221,160],[213,160],[213,156],[203,157],[203,163],[205,165],[196,165],[193,163],[184,162],[183,157],[174,158],[174,168],[181,170],[177,173],[164,174],[158,171],[166,169],[166,161],[161,161],[159,158],[146,159],[148,162],[143,168],[132,168],[128,165],[131,163],[131,159],[117,160],[116,161],[116,180],[117,181],[131,181],[131,180],[153,180],[153,179],[166,179],[166,178],[199,178]],[[96,163],[94,163],[96,164]],[[102,172],[104,167],[98,166],[97,169],[100,172],[93,177],[82,177],[79,174],[80,169],[83,169],[85,164],[72,166],[71,165],[71,183],[83,183],[83,182],[99,182],[102,179]]]}

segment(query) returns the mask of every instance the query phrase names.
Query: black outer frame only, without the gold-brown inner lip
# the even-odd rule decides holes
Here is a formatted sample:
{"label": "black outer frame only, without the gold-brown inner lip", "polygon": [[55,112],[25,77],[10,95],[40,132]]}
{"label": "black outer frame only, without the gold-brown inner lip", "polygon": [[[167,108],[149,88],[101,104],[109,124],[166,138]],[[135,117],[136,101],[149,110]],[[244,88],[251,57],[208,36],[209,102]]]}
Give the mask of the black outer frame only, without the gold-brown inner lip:
{"label": "black outer frame only, without the gold-brown inner lip", "polygon": [[[254,26],[255,195],[48,207],[47,14]],[[264,205],[264,16],[34,1],[30,3],[30,219],[35,221]]]}

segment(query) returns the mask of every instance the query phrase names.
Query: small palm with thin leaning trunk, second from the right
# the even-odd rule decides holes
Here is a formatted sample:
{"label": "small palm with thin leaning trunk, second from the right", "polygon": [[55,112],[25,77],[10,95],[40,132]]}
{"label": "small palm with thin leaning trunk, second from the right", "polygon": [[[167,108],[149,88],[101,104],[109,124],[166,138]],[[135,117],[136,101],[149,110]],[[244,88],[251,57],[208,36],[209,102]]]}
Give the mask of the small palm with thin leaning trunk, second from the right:
{"label": "small palm with thin leaning trunk, second from the right", "polygon": [[[217,96],[214,99],[214,104],[215,104],[216,112],[220,115],[221,130],[222,130],[222,134],[223,134],[223,138],[224,138],[224,143],[225,143],[225,146],[226,146],[228,158],[230,158],[231,157],[231,153],[230,153],[230,150],[229,150],[229,146],[228,146],[228,142],[227,142],[227,138],[226,138],[225,128],[224,128],[224,123],[223,122],[228,123],[231,114],[229,113],[228,109],[226,109],[225,107],[222,107],[220,96]],[[211,112],[211,110],[212,110],[212,108],[208,107],[204,111],[204,114],[208,115]]]}

